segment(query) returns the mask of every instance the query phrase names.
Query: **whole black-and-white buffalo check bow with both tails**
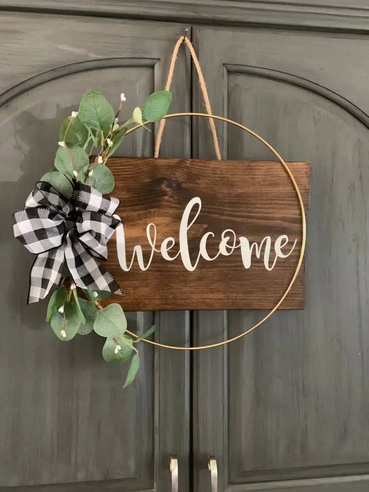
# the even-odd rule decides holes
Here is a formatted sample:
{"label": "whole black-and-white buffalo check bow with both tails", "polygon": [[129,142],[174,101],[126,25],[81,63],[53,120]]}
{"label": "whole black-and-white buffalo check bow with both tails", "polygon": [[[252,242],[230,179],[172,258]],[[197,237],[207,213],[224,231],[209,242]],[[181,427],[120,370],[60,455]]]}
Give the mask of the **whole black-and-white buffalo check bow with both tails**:
{"label": "whole black-and-white buffalo check bow with both tails", "polygon": [[37,258],[31,269],[28,303],[44,299],[59,285],[66,263],[82,289],[122,294],[99,260],[107,258],[107,242],[121,223],[113,217],[119,200],[103,197],[77,182],[67,201],[50,183],[40,181],[23,210],[14,214],[14,235]]}

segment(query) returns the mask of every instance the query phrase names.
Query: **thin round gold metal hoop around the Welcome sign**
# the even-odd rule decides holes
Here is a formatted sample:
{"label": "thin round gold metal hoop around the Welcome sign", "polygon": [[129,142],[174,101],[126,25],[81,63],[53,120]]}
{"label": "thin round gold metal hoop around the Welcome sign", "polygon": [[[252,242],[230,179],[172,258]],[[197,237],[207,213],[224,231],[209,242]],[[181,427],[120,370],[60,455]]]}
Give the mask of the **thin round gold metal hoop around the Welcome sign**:
{"label": "thin round gold metal hoop around the Welcome sign", "polygon": [[[145,340],[145,339],[142,340],[143,342],[146,342],[147,344],[155,345],[156,347],[162,347],[164,349],[172,349],[172,350],[203,350],[203,349],[212,349],[214,347],[221,347],[222,345],[227,345],[227,344],[230,344],[231,342],[235,342],[236,340],[239,340],[240,338],[245,337],[245,335],[248,335],[249,333],[253,332],[258,326],[260,326],[261,324],[263,324],[264,321],[266,321],[267,319],[269,319],[271,317],[271,315],[278,309],[278,307],[282,304],[282,302],[284,301],[284,299],[287,297],[288,292],[291,290],[291,287],[292,287],[292,285],[294,284],[294,282],[295,282],[295,280],[297,278],[297,275],[298,275],[298,272],[299,272],[299,270],[301,268],[302,260],[303,260],[303,257],[304,257],[305,244],[306,244],[306,217],[305,217],[305,207],[304,207],[304,203],[302,201],[300,190],[299,190],[299,188],[297,186],[297,183],[296,183],[296,181],[295,181],[295,179],[294,179],[294,177],[293,177],[293,175],[292,175],[289,167],[287,166],[286,162],[282,159],[282,157],[279,155],[279,153],[272,147],[272,145],[270,145],[270,143],[268,143],[266,140],[264,140],[264,138],[262,138],[260,135],[258,135],[257,133],[255,133],[255,131],[250,130],[250,128],[247,128],[244,125],[241,125],[241,123],[237,123],[237,121],[233,121],[233,120],[231,120],[229,118],[224,118],[223,116],[215,116],[213,114],[206,114],[206,113],[173,113],[173,114],[167,114],[166,116],[164,116],[164,118],[175,118],[177,116],[200,116],[202,118],[214,118],[214,119],[217,119],[217,120],[220,120],[220,121],[225,121],[226,123],[231,123],[232,125],[238,126],[238,128],[241,128],[242,130],[247,131],[250,135],[253,135],[259,141],[261,141],[261,143],[263,143],[267,148],[269,148],[269,150],[271,152],[273,152],[273,154],[277,157],[277,159],[279,160],[279,162],[282,164],[283,168],[287,172],[287,174],[288,174],[288,176],[289,176],[289,178],[290,178],[290,180],[291,180],[291,182],[293,184],[293,187],[294,187],[294,189],[296,191],[296,195],[297,195],[297,198],[298,198],[298,201],[299,201],[299,204],[300,204],[300,210],[301,210],[302,240],[301,240],[300,256],[299,256],[299,260],[298,260],[298,263],[297,263],[295,272],[294,272],[294,274],[292,276],[292,279],[291,279],[288,287],[286,288],[285,292],[283,293],[282,297],[279,299],[279,301],[273,307],[273,309],[271,309],[268,312],[268,314],[266,314],[260,321],[258,321],[253,326],[251,326],[251,328],[249,328],[245,332],[241,333],[240,335],[237,335],[236,337],[230,338],[228,340],[224,340],[223,342],[218,342],[216,344],[210,344],[210,345],[201,345],[201,346],[197,346],[197,347],[181,347],[181,346],[175,346],[175,345],[160,344],[158,342],[153,342],[151,340]],[[147,123],[148,122],[144,122],[144,124],[147,124]],[[140,127],[141,127],[141,125],[137,125],[137,126],[131,128],[130,130],[128,130],[127,133],[130,133],[131,131],[137,130]],[[135,334],[135,333],[133,333],[133,332],[129,332],[127,330],[127,333],[129,335],[131,335],[132,337],[138,338],[138,335]]]}

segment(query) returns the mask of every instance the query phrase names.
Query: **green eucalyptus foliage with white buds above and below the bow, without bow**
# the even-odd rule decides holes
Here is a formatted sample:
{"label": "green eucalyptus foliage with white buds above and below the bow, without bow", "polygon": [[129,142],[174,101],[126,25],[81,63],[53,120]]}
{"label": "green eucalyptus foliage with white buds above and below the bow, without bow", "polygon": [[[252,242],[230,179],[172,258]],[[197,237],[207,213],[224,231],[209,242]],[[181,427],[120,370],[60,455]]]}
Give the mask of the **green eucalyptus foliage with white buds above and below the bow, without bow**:
{"label": "green eucalyptus foliage with white buds above and below the bow, without bow", "polygon": [[[78,113],[72,113],[63,121],[59,140],[64,143],[56,152],[54,166],[41,180],[49,182],[67,200],[73,195],[74,180],[88,183],[103,195],[111,193],[114,177],[106,167],[108,158],[118,149],[130,125],[138,123],[148,130],[144,121],[158,121],[165,116],[171,93],[159,91],[151,94],[142,109],[136,107],[132,117],[119,124],[118,115],[124,107],[123,102],[124,97],[115,115],[113,107],[101,92],[87,91],[82,96]],[[90,163],[90,155],[96,153],[98,157]],[[101,163],[96,165],[97,159]],[[70,277],[68,268],[64,268],[63,277]],[[76,334],[88,335],[92,331],[104,337],[102,356],[106,362],[123,364],[130,360],[124,387],[129,386],[139,369],[136,344],[151,336],[155,326],[133,339],[126,333],[127,320],[121,306],[112,303],[101,308],[99,305],[99,301],[107,298],[110,292],[83,292],[88,299],[79,297],[76,288],[68,290],[64,285],[59,287],[50,298],[46,319],[63,342],[72,340]]]}

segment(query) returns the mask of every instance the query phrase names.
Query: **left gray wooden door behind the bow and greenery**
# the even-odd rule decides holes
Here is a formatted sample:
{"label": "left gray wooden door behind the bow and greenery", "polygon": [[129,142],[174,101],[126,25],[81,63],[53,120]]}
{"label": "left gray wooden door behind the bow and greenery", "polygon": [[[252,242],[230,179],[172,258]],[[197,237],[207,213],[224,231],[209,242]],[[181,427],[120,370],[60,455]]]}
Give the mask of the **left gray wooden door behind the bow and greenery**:
{"label": "left gray wooden door behind the bow and greenery", "polygon": [[[33,258],[12,238],[12,214],[50,168],[60,122],[82,93],[102,90],[113,103],[125,92],[131,113],[164,86],[173,40],[183,30],[60,14],[0,15],[2,490],[168,490],[171,454],[178,456],[181,490],[189,488],[189,355],[142,344],[138,380],[123,390],[124,370],[104,363],[102,339],[61,344],[43,322],[46,303],[26,306]],[[179,56],[172,108],[189,110],[190,65],[185,53]],[[163,156],[190,155],[186,122],[166,132]],[[152,155],[153,137],[135,132],[122,153]],[[154,314],[129,313],[128,320],[143,332]],[[158,340],[188,343],[188,313],[162,312],[156,322]]]}

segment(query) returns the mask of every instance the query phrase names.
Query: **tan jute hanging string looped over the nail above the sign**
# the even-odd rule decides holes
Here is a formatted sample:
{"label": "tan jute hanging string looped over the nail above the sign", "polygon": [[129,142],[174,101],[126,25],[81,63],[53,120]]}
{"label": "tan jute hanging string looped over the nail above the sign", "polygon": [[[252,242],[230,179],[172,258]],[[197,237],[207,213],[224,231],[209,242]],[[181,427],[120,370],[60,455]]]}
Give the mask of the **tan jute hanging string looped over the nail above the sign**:
{"label": "tan jute hanging string looped over the nail above the sign", "polygon": [[[191,41],[186,37],[186,35],[185,36],[180,36],[180,38],[178,39],[178,41],[175,43],[175,46],[174,46],[174,49],[173,49],[173,53],[171,55],[169,72],[168,72],[168,78],[167,78],[166,84],[165,84],[165,90],[167,90],[167,91],[170,90],[171,82],[173,80],[173,75],[174,75],[175,62],[176,62],[177,57],[178,57],[179,48],[180,48],[180,46],[182,44],[185,44],[185,46],[187,46],[189,48],[189,50],[190,50],[191,57],[193,59],[193,62],[194,62],[196,71],[197,71],[198,76],[199,76],[200,87],[201,87],[201,92],[203,93],[203,97],[204,97],[206,112],[209,115],[212,115],[212,107],[211,107],[211,104],[210,104],[209,94],[208,94],[208,90],[206,88],[206,83],[205,83],[203,72],[201,70],[199,59],[198,59],[198,57],[196,55],[196,52],[194,50],[194,47],[192,46]],[[210,129],[212,130],[212,134],[213,134],[213,142],[214,142],[215,153],[216,153],[217,159],[218,160],[221,160],[222,159],[222,157],[221,157],[221,151],[219,149],[219,142],[218,142],[218,137],[217,137],[217,130],[215,129],[215,123],[214,123],[214,119],[213,118],[209,118],[209,124],[210,124]],[[159,128],[158,128],[158,131],[157,131],[157,136],[156,136],[156,141],[155,141],[155,151],[154,151],[154,157],[155,158],[157,158],[159,156],[161,138],[162,138],[162,135],[163,135],[164,127],[165,127],[165,119],[162,119],[160,121],[160,124],[159,124]]]}

